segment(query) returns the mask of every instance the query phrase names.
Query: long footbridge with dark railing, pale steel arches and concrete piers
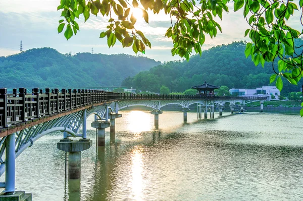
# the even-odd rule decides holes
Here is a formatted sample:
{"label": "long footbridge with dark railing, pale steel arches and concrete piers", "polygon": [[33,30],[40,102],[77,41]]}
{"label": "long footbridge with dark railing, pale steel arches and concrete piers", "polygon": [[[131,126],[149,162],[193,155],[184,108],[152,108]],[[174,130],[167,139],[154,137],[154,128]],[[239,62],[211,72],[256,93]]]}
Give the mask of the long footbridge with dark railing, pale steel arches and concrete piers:
{"label": "long footbridge with dark railing, pale steel arches and concrete piers", "polygon": [[[0,195],[0,200],[15,192],[15,159],[49,132],[63,131],[63,139],[58,143],[58,149],[69,152],[69,179],[79,179],[81,151],[89,149],[92,145],[92,141],[86,138],[86,119],[89,115],[95,115],[91,126],[97,129],[98,146],[104,146],[104,129],[111,126],[111,140],[114,140],[115,118],[121,117],[120,109],[129,106],[142,105],[153,108],[151,114],[155,116],[155,127],[158,129],[161,108],[166,105],[182,106],[183,119],[186,121],[189,105],[192,104],[197,104],[198,118],[201,118],[203,109],[205,118],[208,118],[208,111],[210,118],[214,118],[215,106],[219,107],[219,113],[222,115],[225,103],[229,104],[232,113],[236,103],[240,104],[243,111],[246,103],[260,101],[262,112],[262,101],[266,100],[266,97],[214,95],[133,95],[94,89],[45,89],[44,93],[43,90],[35,88],[31,94],[27,91],[20,88],[9,94],[7,89],[0,89],[0,175],[6,172],[5,182],[0,183],[0,187],[5,188],[5,194]],[[147,119],[135,120],[137,125],[132,129],[140,132],[144,129]],[[81,127],[82,133],[79,133]],[[70,137],[81,139],[72,141]],[[139,152],[135,151],[134,156],[137,154]],[[136,157],[134,162],[135,159]]]}

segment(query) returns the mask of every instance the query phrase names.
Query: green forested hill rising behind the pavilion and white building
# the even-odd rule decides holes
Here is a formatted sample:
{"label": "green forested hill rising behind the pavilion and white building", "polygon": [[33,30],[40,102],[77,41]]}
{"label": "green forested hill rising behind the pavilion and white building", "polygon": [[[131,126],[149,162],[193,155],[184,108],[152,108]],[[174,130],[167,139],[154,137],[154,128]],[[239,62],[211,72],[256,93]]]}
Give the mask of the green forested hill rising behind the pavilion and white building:
{"label": "green forested hill rising behind the pavilion and white building", "polygon": [[[183,92],[204,81],[229,88],[255,89],[269,86],[269,77],[274,73],[272,63],[265,63],[264,68],[255,66],[250,56],[246,59],[245,46],[243,41],[219,45],[203,51],[201,56],[192,56],[188,62],[170,61],[140,72],[126,78],[122,85],[151,92],[159,92],[162,85],[172,92]],[[274,86],[275,82],[271,85]],[[299,91],[301,85],[301,81],[295,86],[285,80],[282,94]]]}

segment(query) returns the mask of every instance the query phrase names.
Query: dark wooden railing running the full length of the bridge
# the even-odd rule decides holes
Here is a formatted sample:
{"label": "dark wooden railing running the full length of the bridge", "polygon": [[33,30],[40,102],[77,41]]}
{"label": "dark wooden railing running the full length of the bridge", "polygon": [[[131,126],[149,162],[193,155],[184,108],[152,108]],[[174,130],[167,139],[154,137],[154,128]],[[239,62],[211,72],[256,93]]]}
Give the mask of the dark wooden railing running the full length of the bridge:
{"label": "dark wooden railing running the full length of the bridge", "polygon": [[[19,92],[19,93],[18,93]],[[10,125],[54,116],[96,103],[116,100],[266,100],[266,97],[215,96],[214,94],[166,95],[166,94],[125,94],[95,89],[49,89],[34,88],[27,93],[25,88],[0,89],[0,132]]]}

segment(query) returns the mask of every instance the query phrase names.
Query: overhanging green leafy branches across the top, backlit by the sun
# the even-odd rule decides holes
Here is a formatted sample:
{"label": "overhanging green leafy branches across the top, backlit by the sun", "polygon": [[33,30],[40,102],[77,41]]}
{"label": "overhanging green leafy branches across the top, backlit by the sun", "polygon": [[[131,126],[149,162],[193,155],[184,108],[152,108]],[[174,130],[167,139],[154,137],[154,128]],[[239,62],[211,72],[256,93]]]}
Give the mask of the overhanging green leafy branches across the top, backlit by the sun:
{"label": "overhanging green leafy branches across the top, backlit by the sun", "polygon": [[[218,30],[222,31],[214,18],[222,19],[223,13],[229,12],[228,3],[233,4],[234,11],[243,8],[243,18],[250,25],[244,33],[252,41],[246,45],[246,56],[251,55],[255,65],[272,62],[274,74],[270,81],[276,80],[280,91],[282,77],[297,84],[303,75],[302,50],[294,45],[294,39],[302,32],[288,26],[287,22],[295,10],[302,9],[303,0],[296,3],[292,0],[61,0],[58,10],[62,10],[64,19],[59,21],[58,32],[66,27],[64,36],[69,39],[80,30],[76,18],[83,15],[87,21],[90,14],[101,14],[109,17],[107,30],[100,33],[100,38],[107,37],[109,47],[118,40],[123,47],[132,46],[135,53],[144,53],[145,46],[151,48],[151,44],[136,26],[133,9],[142,11],[146,23],[150,17],[148,10],[154,14],[164,11],[171,19],[165,37],[173,41],[172,55],[178,54],[188,60],[193,50],[201,54],[205,35],[213,38]],[[279,59],[277,64],[275,59]]]}

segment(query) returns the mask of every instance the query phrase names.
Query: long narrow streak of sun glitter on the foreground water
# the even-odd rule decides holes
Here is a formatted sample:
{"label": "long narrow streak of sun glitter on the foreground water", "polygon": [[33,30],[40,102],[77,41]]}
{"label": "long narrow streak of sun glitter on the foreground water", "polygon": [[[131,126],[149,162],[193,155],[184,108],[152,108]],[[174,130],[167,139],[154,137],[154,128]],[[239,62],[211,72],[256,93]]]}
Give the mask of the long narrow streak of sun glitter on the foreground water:
{"label": "long narrow streak of sun glitter on the foreground water", "polygon": [[131,153],[132,160],[132,180],[131,180],[131,188],[132,194],[135,200],[143,200],[143,189],[144,189],[144,181],[143,181],[143,160],[142,160],[142,148],[140,146],[135,146],[134,150]]}

